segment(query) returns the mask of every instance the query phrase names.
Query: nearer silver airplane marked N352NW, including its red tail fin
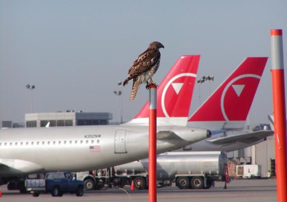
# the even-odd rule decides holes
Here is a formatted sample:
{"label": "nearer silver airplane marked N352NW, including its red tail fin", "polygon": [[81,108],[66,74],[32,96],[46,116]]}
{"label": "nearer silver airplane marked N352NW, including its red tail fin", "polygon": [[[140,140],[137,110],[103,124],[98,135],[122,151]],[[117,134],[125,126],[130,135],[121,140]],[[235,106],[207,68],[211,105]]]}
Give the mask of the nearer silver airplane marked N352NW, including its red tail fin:
{"label": "nearer silver airplane marked N352NW, including its red tail fin", "polygon": [[[157,96],[166,106],[164,114],[158,108],[158,154],[210,137],[207,129],[167,122],[170,117],[187,117],[199,60],[200,56],[180,57],[158,88]],[[147,110],[143,108],[139,114]],[[165,124],[160,124],[162,119],[166,119]],[[148,125],[140,122],[1,129],[0,185],[26,174],[86,171],[147,158],[148,138]]]}

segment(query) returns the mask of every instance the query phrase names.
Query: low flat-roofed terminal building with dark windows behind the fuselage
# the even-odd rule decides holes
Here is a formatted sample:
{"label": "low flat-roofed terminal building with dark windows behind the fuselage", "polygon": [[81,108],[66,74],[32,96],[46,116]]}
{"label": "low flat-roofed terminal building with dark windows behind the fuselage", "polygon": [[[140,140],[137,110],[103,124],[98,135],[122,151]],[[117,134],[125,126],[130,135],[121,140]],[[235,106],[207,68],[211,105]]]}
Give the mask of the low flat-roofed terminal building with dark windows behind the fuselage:
{"label": "low flat-roofed terminal building with dark windows behind the fuselage", "polygon": [[108,125],[113,119],[107,112],[55,112],[25,114],[25,127]]}

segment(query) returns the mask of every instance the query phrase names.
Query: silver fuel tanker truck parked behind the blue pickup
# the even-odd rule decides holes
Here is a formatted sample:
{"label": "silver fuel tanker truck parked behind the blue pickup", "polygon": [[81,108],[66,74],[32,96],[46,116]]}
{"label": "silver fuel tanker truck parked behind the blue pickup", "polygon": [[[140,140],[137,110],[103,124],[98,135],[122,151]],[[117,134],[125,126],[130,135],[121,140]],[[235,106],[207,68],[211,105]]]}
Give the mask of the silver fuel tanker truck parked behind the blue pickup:
{"label": "silver fuel tanker truck parked behind the blue pickup", "polygon": [[[84,181],[86,190],[133,185],[135,189],[147,189],[148,159],[134,161],[106,169],[78,172],[78,180]],[[158,187],[171,186],[175,182],[180,189],[208,189],[214,181],[225,181],[227,156],[220,151],[177,151],[157,156]]]}

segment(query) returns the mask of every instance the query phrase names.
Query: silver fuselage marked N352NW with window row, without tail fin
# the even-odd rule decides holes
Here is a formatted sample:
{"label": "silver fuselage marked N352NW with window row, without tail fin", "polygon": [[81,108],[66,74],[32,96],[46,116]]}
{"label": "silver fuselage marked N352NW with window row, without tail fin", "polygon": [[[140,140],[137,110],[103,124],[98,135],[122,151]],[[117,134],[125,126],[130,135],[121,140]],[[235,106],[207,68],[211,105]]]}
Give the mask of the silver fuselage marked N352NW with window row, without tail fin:
{"label": "silver fuselage marked N352NW with window row, without tail fin", "polygon": [[[207,130],[158,126],[158,154],[207,138]],[[148,157],[148,126],[0,130],[0,176],[85,171]]]}

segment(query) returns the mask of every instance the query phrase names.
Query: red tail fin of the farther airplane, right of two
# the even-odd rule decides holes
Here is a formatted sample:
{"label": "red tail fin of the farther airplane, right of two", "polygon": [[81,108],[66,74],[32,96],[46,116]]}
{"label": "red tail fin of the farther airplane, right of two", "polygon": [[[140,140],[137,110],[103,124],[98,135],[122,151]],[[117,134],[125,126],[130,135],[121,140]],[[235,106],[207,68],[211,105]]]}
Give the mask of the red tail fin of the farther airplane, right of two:
{"label": "red tail fin of the farther airplane, right of two", "polygon": [[267,58],[247,58],[188,119],[209,129],[244,127]]}

